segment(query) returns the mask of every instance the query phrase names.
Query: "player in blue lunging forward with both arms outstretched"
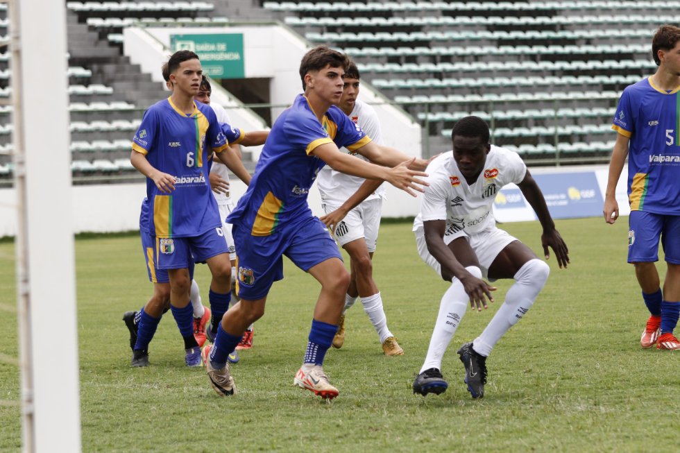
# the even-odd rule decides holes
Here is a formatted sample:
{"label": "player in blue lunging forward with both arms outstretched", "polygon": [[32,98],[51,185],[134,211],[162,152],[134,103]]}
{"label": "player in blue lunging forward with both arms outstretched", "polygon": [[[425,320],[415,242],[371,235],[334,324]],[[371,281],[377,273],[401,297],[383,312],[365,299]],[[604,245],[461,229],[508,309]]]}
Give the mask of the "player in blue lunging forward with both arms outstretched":
{"label": "player in blue lunging forward with both arms outstretched", "polygon": [[[237,244],[236,285],[241,301],[223,316],[212,348],[203,350],[210,383],[219,395],[235,391],[227,356],[246,327],[264,314],[271,285],[283,278],[283,255],[321,283],[307,353],[294,384],[322,398],[335,398],[339,393],[322,364],[337,332],[350,275],[335,242],[307,204],[309,188],[321,167],[329,164],[362,178],[386,180],[409,194],[420,190],[416,176],[425,173],[407,168],[413,160],[398,164],[394,155],[383,155],[334,105],[342,96],[347,66],[346,55],[325,46],[305,54],[300,64],[305,93],[275,121],[253,180],[228,217]],[[341,153],[339,146],[350,151],[368,146],[364,151],[371,150],[373,162],[395,166],[356,159]]]}

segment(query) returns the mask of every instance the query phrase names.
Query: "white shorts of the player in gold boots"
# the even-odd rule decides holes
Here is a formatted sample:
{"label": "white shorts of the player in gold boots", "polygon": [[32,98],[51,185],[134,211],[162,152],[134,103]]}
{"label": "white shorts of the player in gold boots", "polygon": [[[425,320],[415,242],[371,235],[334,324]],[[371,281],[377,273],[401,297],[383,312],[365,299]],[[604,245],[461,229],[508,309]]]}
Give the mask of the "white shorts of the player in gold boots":
{"label": "white shorts of the player in gold boots", "polygon": [[[321,207],[323,212],[328,214],[337,210],[340,205],[323,203]],[[342,247],[346,243],[363,237],[368,251],[375,252],[381,215],[382,198],[363,201],[359,206],[348,212],[345,218],[336,225],[334,237],[337,243]]]}

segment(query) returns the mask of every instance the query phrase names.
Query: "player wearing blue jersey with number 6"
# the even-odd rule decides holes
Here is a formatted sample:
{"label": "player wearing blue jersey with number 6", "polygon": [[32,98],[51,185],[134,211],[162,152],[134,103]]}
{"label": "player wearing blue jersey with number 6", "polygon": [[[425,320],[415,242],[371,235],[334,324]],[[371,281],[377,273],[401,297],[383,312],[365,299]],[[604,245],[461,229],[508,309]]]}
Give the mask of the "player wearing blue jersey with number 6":
{"label": "player wearing blue jersey with number 6", "polygon": [[[130,162],[146,176],[148,228],[154,238],[155,267],[168,271],[171,311],[180,326],[187,365],[201,364],[189,305],[189,262],[205,261],[212,273],[210,306],[221,319],[228,309],[230,262],[219,211],[208,180],[209,151],[228,148],[213,110],[194,102],[201,86],[201,62],[191,51],[178,51],[168,61],[172,94],[144,113],[133,139]],[[142,312],[138,332],[155,330],[160,318]],[[135,349],[136,356],[146,350]]]}

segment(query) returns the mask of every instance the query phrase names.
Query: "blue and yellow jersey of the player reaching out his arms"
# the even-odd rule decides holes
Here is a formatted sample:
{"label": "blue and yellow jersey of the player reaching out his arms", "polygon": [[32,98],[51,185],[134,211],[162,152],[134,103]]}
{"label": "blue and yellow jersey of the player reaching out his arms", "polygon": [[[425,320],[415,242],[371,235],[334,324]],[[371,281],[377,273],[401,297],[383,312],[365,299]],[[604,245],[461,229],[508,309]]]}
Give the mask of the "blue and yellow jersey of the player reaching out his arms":
{"label": "blue and yellow jersey of the player reaching out his arms", "polygon": [[371,139],[334,105],[319,123],[307,98],[298,95],[276,119],[253,180],[227,221],[248,228],[253,236],[269,236],[282,225],[312,216],[307,194],[325,162],[311,153],[331,142],[355,151]]}

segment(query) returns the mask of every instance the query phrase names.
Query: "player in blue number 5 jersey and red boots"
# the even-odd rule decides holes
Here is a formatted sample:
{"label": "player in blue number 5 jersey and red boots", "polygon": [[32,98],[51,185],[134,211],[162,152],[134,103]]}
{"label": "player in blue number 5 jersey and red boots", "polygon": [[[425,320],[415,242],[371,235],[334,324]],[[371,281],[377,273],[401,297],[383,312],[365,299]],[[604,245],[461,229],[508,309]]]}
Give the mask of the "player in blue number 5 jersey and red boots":
{"label": "player in blue number 5 jersey and red boots", "polygon": [[[628,156],[628,262],[651,314],[640,345],[679,350],[673,330],[680,312],[680,28],[659,27],[652,56],[656,73],[624,89],[614,114],[618,136],[603,213],[607,223],[618,218],[615,188]],[[654,264],[659,239],[667,266],[663,291]]]}

